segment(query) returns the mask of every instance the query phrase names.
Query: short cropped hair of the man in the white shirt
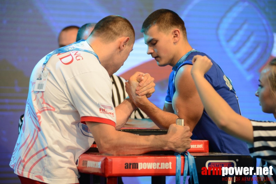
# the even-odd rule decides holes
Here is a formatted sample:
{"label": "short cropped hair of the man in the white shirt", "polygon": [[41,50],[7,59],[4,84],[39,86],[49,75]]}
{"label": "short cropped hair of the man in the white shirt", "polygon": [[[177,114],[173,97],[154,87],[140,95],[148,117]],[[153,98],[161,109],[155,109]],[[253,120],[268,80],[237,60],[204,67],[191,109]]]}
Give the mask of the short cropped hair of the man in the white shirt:
{"label": "short cropped hair of the man in the white shirt", "polygon": [[127,44],[133,44],[135,41],[135,31],[130,21],[119,15],[104,17],[95,25],[91,35],[101,37],[106,43],[115,41],[121,36],[130,38]]}

